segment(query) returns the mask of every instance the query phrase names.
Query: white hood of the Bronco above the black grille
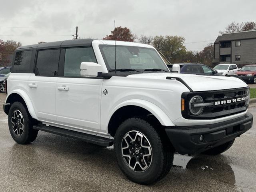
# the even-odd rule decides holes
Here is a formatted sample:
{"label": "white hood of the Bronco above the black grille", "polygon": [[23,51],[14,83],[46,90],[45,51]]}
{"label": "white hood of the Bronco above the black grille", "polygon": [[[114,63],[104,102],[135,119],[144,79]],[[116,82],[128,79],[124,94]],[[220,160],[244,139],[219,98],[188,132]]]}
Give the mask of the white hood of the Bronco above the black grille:
{"label": "white hood of the Bronco above the black grille", "polygon": [[[127,76],[128,78],[166,79],[166,77],[181,78],[193,91],[224,90],[247,87],[248,85],[236,77],[202,76],[178,73],[140,73]],[[172,81],[172,80],[166,80]]]}

